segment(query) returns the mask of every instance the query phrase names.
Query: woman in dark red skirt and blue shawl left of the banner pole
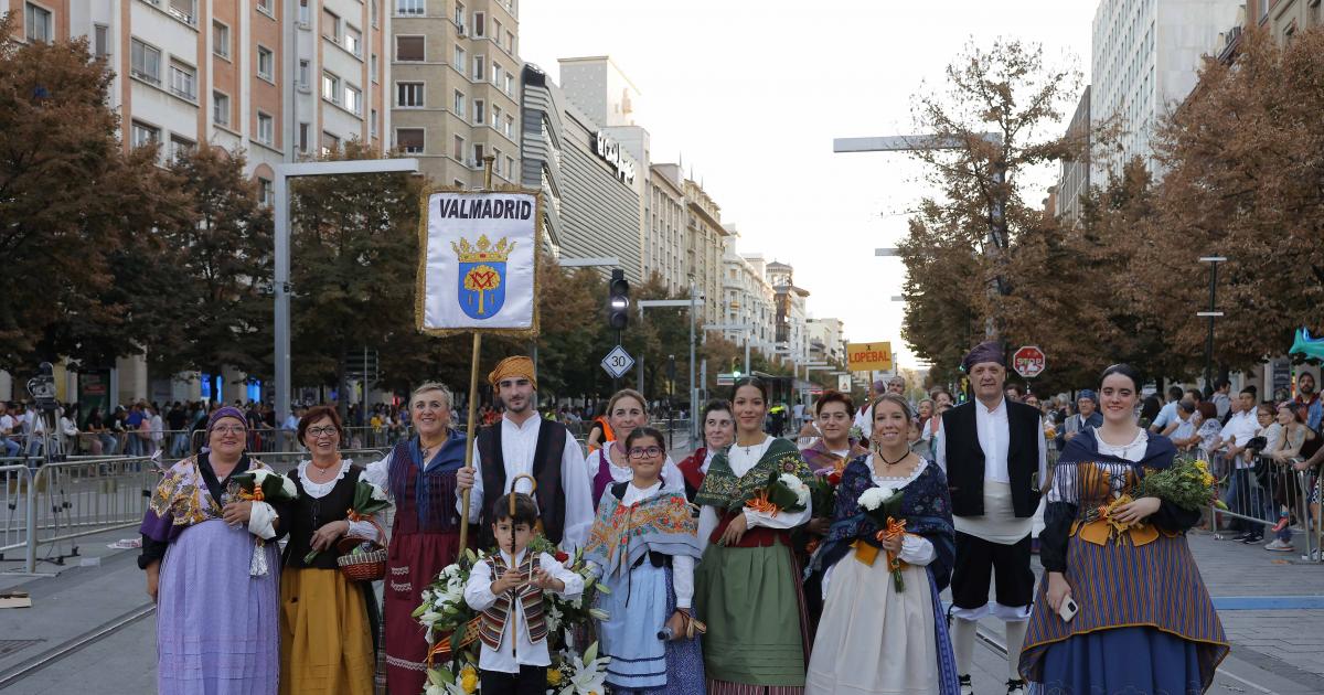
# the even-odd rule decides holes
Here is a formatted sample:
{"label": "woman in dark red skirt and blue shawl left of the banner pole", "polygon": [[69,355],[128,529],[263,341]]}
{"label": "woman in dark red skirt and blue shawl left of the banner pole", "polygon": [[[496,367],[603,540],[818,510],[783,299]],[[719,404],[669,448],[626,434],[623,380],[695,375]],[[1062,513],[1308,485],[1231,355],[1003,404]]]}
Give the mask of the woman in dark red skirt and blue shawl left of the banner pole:
{"label": "woman in dark red skirt and blue shawl left of the banner pole", "polygon": [[455,471],[465,465],[465,436],[450,429],[450,391],[426,383],[409,396],[414,436],[364,477],[396,506],[387,556],[387,690],[422,692],[428,679],[428,642],[413,618],[422,590],[459,553]]}

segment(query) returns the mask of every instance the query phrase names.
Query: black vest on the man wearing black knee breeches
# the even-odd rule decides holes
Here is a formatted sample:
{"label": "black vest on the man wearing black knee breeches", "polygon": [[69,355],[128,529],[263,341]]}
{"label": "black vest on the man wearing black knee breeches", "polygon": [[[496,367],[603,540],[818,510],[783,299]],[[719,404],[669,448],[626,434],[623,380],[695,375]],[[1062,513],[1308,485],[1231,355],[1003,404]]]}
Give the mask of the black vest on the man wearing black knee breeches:
{"label": "black vest on the man wearing black knee breeches", "polygon": [[[943,413],[947,451],[947,483],[952,492],[952,515],[984,516],[984,449],[974,424],[978,401],[968,401]],[[1034,516],[1039,506],[1039,412],[1023,402],[1006,401],[1006,471],[1012,479],[1012,508],[1016,516]]]}

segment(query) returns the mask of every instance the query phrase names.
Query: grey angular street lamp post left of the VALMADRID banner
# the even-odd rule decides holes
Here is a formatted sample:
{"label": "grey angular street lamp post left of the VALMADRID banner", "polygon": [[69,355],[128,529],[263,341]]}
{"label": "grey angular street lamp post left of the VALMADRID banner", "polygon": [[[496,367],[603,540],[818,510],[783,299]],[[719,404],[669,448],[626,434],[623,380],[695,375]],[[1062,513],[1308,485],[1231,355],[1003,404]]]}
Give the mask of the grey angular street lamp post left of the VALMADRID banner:
{"label": "grey angular street lamp post left of the VALMADRID banner", "polygon": [[[283,422],[290,416],[290,179],[297,176],[339,176],[354,173],[396,173],[418,171],[418,160],[355,159],[344,162],[305,162],[277,164],[273,184],[275,204],[275,417]],[[340,394],[344,402],[344,393]]]}

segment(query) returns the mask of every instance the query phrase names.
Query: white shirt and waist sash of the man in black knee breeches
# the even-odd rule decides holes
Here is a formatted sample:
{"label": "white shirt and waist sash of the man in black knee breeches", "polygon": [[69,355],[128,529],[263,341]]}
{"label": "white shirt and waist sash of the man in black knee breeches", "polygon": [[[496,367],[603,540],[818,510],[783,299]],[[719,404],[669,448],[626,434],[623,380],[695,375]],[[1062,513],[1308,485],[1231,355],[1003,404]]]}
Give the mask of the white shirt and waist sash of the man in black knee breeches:
{"label": "white shirt and waist sash of the man in black knee breeches", "polygon": [[[978,536],[993,543],[1014,544],[1034,530],[1034,516],[1021,519],[1012,508],[1012,478],[1006,467],[1008,447],[1012,434],[1006,418],[1006,398],[998,401],[992,410],[976,400],[974,430],[984,450],[984,516],[953,516],[957,531]],[[1043,428],[1038,429],[1039,479],[1042,486],[1049,481],[1049,442],[1043,438]],[[947,473],[947,430],[939,425],[937,442],[933,446],[937,467]]]}

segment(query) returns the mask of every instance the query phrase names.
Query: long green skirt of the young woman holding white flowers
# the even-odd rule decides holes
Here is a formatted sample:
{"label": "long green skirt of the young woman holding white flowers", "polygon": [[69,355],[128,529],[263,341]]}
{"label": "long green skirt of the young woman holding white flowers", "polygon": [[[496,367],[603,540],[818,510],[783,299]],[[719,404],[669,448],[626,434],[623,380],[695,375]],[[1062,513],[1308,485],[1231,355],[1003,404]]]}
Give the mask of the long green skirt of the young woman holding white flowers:
{"label": "long green skirt of the young woman holding white flowers", "polygon": [[786,545],[708,545],[694,580],[694,606],[708,624],[707,678],[804,687],[804,598],[796,576]]}

